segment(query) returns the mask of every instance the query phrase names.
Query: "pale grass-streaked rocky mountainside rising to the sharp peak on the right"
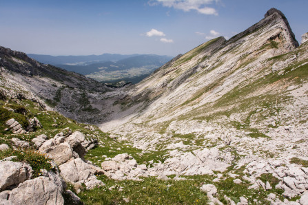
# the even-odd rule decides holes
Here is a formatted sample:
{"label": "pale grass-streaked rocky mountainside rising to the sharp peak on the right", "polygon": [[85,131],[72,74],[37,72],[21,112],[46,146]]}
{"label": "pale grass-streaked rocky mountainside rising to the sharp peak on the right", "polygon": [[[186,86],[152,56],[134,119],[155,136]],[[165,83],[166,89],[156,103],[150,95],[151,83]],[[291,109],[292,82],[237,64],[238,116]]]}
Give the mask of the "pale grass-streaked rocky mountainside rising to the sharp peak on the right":
{"label": "pale grass-streaked rocky mountainside rising to the sharp peak on the right", "polygon": [[295,197],[306,185],[291,172],[307,179],[296,163],[308,160],[307,63],[307,44],[298,47],[285,15],[271,9],[232,39],[199,45],[134,85],[120,102],[123,109],[139,105],[138,112],[101,129],[138,148],[167,151],[158,175],[236,164],[229,174],[242,167],[249,188],[266,188],[258,177],[269,173],[283,195]]}

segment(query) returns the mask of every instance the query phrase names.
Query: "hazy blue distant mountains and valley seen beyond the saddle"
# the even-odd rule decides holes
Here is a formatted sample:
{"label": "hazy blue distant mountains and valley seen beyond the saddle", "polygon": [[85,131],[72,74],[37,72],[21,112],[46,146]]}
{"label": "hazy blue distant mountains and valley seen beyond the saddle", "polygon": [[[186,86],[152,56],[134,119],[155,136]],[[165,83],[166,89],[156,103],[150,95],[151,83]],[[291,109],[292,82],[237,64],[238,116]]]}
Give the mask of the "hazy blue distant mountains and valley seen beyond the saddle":
{"label": "hazy blue distant mountains and valley seen beyond the saddle", "polygon": [[154,54],[102,54],[99,56],[28,54],[28,56],[41,63],[55,65],[104,83],[114,83],[121,80],[138,83],[154,72],[155,69],[172,59],[172,56],[158,56]]}

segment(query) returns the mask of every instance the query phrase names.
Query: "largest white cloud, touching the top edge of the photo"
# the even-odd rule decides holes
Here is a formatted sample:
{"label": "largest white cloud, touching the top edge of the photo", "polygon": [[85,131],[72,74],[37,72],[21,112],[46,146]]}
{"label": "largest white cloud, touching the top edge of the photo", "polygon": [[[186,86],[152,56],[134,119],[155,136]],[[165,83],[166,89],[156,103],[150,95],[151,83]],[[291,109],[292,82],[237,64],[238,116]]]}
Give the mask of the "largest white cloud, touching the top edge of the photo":
{"label": "largest white cloud, touching the top edge of the photo", "polygon": [[220,0],[150,0],[148,3],[150,6],[156,6],[157,3],[161,3],[165,7],[173,7],[185,12],[196,10],[201,14],[218,15],[218,12],[214,8],[210,8],[206,5],[214,2],[218,3],[219,1]]}

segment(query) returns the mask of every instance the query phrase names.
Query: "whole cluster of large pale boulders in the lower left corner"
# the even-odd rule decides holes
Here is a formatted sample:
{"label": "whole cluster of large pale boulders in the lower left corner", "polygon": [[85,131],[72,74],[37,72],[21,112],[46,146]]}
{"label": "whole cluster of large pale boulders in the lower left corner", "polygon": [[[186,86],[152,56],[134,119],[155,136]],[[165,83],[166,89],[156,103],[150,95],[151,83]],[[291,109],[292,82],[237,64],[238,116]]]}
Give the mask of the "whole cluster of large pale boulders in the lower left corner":
{"label": "whole cluster of large pale boulders in the lower left corner", "polygon": [[[15,121],[16,122],[16,121]],[[28,142],[12,138],[13,147],[28,148]],[[55,171],[41,169],[39,177],[34,177],[30,164],[14,162],[16,156],[0,161],[0,204],[63,204],[63,195],[69,195],[73,202],[80,202],[72,191],[67,189],[67,182],[76,192],[83,184],[86,188],[104,186],[96,175],[105,173],[103,169],[83,159],[88,149],[98,141],[86,139],[83,133],[69,128],[48,139],[44,134],[32,139],[37,151],[50,159]],[[1,150],[9,149],[8,144],[1,144]],[[59,167],[59,168],[58,168]]]}

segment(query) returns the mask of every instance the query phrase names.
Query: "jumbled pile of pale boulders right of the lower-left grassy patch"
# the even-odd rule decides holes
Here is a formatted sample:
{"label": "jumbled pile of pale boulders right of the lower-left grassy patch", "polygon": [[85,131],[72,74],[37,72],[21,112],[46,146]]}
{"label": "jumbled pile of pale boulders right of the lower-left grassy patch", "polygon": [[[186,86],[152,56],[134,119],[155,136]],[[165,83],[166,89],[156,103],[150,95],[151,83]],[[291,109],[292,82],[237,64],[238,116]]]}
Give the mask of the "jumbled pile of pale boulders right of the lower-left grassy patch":
{"label": "jumbled pile of pale boulders right of the lower-left grassy patch", "polygon": [[54,138],[46,139],[45,135],[41,135],[34,138],[32,142],[41,153],[46,153],[57,162],[61,175],[67,182],[74,184],[76,189],[79,189],[82,183],[87,188],[104,186],[103,182],[96,178],[97,174],[102,174],[104,171],[81,159],[87,149],[92,147],[91,144],[96,144],[97,140],[92,138],[86,140],[83,133],[80,131],[72,133],[70,129],[63,129]]}

